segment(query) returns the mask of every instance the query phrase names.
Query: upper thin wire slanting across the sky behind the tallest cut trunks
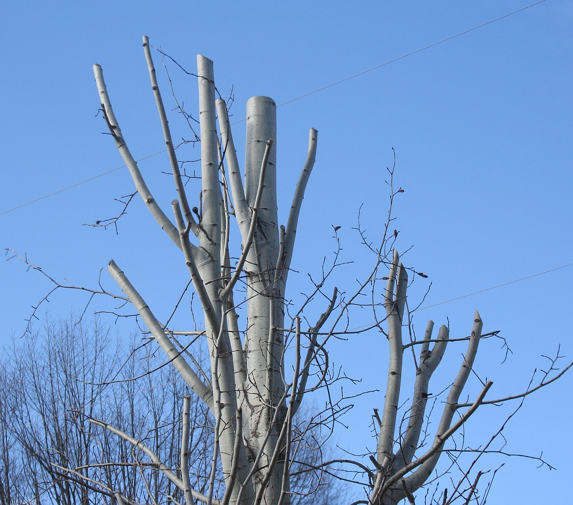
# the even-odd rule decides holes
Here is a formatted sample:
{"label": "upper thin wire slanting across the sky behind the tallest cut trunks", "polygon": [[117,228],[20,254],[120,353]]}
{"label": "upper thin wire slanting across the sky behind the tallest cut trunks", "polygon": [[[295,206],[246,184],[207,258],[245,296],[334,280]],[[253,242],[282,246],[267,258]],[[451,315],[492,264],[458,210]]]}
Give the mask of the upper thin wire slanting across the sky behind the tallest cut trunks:
{"label": "upper thin wire slanting across the sky behind the tallest cut trunks", "polygon": [[[372,71],[374,71],[374,70],[376,70],[376,69],[382,68],[382,66],[389,65],[390,63],[393,63],[394,61],[402,60],[403,58],[406,58],[406,57],[408,57],[408,56],[411,56],[412,54],[416,54],[416,53],[422,52],[422,51],[424,51],[424,50],[426,50],[426,49],[433,48],[434,46],[437,46],[438,44],[443,44],[444,42],[447,42],[447,41],[449,41],[449,40],[452,40],[453,38],[460,37],[461,35],[465,35],[466,33],[469,33],[469,32],[473,32],[473,30],[477,30],[478,28],[483,28],[484,26],[490,25],[490,24],[492,24],[492,23],[494,23],[494,22],[496,22],[496,21],[500,21],[500,19],[507,18],[507,17],[509,17],[509,16],[511,16],[511,15],[513,15],[513,14],[517,14],[517,13],[519,13],[519,12],[521,12],[521,11],[526,10],[526,9],[530,9],[531,7],[535,7],[536,5],[539,5],[540,3],[543,3],[543,2],[546,2],[546,1],[547,1],[547,0],[540,0],[539,2],[531,3],[531,4],[528,5],[528,6],[521,7],[521,9],[514,10],[514,11],[512,11],[512,12],[510,12],[510,13],[507,13],[507,14],[504,14],[504,15],[498,17],[498,18],[491,19],[490,21],[486,21],[485,23],[482,23],[481,25],[474,26],[473,28],[469,28],[469,29],[467,29],[467,30],[464,30],[463,32],[456,33],[455,35],[451,35],[451,36],[446,37],[446,38],[443,38],[442,40],[439,40],[439,41],[437,41],[437,42],[433,42],[433,44],[429,44],[429,45],[427,45],[427,46],[424,46],[423,48],[416,49],[415,51],[411,51],[411,52],[406,53],[406,54],[402,54],[402,56],[398,56],[397,58],[394,58],[393,60],[385,61],[384,63],[381,63],[380,65],[372,66],[372,68],[369,68],[369,69],[367,69],[367,70],[363,70],[362,72],[358,72],[358,73],[355,73],[354,75],[351,75],[351,76],[348,76],[348,77],[344,77],[344,79],[340,79],[339,81],[336,81],[335,83],[327,84],[327,85],[325,85],[325,86],[323,86],[323,87],[321,87],[321,88],[315,89],[314,91],[309,91],[308,93],[305,93],[304,95],[300,95],[300,96],[297,96],[296,98],[292,98],[292,99],[290,99],[290,100],[286,100],[286,101],[284,101],[284,102],[278,104],[277,107],[282,107],[282,105],[286,105],[286,104],[292,103],[293,101],[303,99],[303,98],[305,98],[305,97],[307,97],[307,96],[310,96],[310,95],[314,95],[314,93],[318,93],[318,92],[320,92],[320,91],[324,91],[324,89],[331,88],[331,87],[333,87],[333,86],[336,86],[337,84],[344,83],[345,81],[348,81],[348,80],[350,80],[350,79],[354,79],[355,77],[358,77],[358,76],[361,76],[361,75],[364,75],[365,73],[372,72]],[[242,123],[242,122],[245,121],[245,119],[246,119],[246,118],[240,119],[240,120],[238,120],[238,121],[236,121],[236,122],[234,122],[234,123],[231,123],[231,124]],[[162,151],[154,152],[154,154],[150,154],[150,155],[144,156],[143,158],[140,158],[140,159],[136,160],[136,163],[138,163],[138,162],[140,162],[140,161],[142,161],[142,160],[144,160],[144,159],[151,158],[152,156],[156,156],[156,155],[161,154],[162,152],[166,152],[166,151],[167,151],[167,149],[163,149]],[[15,207],[13,207],[13,208],[11,208],[11,209],[4,210],[3,212],[0,212],[0,216],[3,216],[4,214],[7,214],[7,213],[9,213],[9,212],[12,212],[13,210],[21,209],[22,207],[25,207],[26,205],[31,205],[32,203],[39,202],[40,200],[43,200],[44,198],[52,197],[53,195],[58,194],[58,193],[61,193],[62,191],[66,191],[66,190],[68,190],[68,189],[72,189],[72,187],[80,186],[80,185],[85,184],[85,183],[87,183],[87,182],[89,182],[89,181],[93,181],[94,179],[97,179],[97,178],[99,178],[99,177],[103,177],[104,175],[111,174],[112,172],[115,172],[116,170],[120,170],[120,169],[123,169],[123,168],[125,168],[125,165],[121,165],[120,167],[117,167],[116,169],[109,170],[109,171],[107,171],[107,172],[104,172],[103,174],[96,175],[95,177],[91,177],[91,178],[89,178],[89,179],[85,179],[85,181],[77,182],[76,184],[72,184],[71,186],[64,187],[64,188],[62,188],[62,189],[59,189],[59,190],[57,190],[57,191],[54,191],[53,193],[44,195],[43,197],[36,198],[36,199],[34,199],[34,200],[32,200],[32,201],[29,201],[29,202],[26,202],[26,203],[22,203],[21,205],[15,206]]]}

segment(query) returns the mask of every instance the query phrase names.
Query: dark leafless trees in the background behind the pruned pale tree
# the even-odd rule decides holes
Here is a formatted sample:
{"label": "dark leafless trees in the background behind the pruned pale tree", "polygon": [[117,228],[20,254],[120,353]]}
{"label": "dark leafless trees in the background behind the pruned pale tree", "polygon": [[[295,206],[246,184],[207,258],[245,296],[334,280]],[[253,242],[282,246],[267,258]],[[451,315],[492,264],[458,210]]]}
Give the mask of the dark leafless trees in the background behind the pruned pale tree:
{"label": "dark leafless trees in the background behind the pruned pale tree", "polygon": [[[76,319],[49,320],[26,340],[16,341],[2,358],[0,504],[100,503],[100,491],[94,491],[89,481],[62,474],[61,467],[70,466],[91,467],[84,470],[86,477],[109,489],[123,488],[131,503],[159,503],[170,489],[166,477],[146,469],[142,454],[131,443],[103,436],[89,419],[107,419],[175,467],[181,400],[189,391],[149,338],[131,339],[126,346],[98,319],[93,324]],[[198,357],[205,361],[201,354]],[[195,456],[190,468],[195,486],[205,490],[213,418],[201,402],[191,400],[189,421],[190,452]],[[321,447],[313,433],[317,430],[306,429],[308,421],[304,426],[309,442],[301,439],[300,457],[318,465]],[[340,486],[316,469],[304,469],[299,468],[295,480],[295,489],[301,490],[295,502],[308,503],[304,495],[316,488],[313,503],[333,503],[328,492],[340,493]],[[182,499],[177,488],[171,489],[171,496]]]}

